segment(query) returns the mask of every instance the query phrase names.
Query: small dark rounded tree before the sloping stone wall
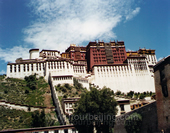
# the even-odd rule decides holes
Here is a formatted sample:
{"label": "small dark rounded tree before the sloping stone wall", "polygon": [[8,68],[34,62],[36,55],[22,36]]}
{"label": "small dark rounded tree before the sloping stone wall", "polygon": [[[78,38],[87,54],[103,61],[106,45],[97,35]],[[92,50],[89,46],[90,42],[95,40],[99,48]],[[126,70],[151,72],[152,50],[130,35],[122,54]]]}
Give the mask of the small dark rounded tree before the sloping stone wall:
{"label": "small dark rounded tree before the sloping stone wall", "polygon": [[127,133],[140,133],[142,128],[142,116],[138,113],[131,114],[125,121]]}

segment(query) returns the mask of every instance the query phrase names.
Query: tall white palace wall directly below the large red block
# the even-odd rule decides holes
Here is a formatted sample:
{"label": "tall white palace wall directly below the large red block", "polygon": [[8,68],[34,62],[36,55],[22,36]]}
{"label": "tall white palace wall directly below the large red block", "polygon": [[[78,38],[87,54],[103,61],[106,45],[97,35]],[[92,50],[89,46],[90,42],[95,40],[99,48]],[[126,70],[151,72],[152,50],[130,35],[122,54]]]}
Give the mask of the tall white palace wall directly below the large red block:
{"label": "tall white palace wall directly below the large red block", "polygon": [[154,89],[154,79],[147,70],[135,70],[133,65],[128,66],[95,66],[94,80],[92,81],[99,88],[109,87],[115,92],[152,91]]}

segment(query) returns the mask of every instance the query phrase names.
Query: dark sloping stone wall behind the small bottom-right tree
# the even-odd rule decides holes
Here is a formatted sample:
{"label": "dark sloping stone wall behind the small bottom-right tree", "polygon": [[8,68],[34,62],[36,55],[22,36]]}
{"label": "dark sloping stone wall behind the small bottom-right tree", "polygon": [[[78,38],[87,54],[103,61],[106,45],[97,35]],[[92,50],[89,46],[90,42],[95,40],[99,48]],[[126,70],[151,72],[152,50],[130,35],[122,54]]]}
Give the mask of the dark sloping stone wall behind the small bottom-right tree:
{"label": "dark sloping stone wall behind the small bottom-right tree", "polygon": [[126,133],[124,127],[125,120],[129,115],[139,113],[142,116],[142,131],[141,133],[157,133],[157,110],[156,102],[144,105],[138,109],[120,115],[116,118],[114,133]]}

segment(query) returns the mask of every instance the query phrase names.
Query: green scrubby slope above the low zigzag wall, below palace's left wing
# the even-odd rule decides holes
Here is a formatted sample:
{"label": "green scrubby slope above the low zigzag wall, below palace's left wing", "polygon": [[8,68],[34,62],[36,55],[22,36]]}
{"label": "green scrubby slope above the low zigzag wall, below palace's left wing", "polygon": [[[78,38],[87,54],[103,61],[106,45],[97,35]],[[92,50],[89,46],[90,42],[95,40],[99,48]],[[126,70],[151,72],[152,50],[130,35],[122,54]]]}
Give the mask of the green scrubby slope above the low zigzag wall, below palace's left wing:
{"label": "green scrubby slope above the low zigzag wall, below palace's left wing", "polygon": [[43,77],[36,75],[25,77],[25,80],[6,78],[0,81],[0,100],[30,106],[44,106],[46,88],[49,87]]}

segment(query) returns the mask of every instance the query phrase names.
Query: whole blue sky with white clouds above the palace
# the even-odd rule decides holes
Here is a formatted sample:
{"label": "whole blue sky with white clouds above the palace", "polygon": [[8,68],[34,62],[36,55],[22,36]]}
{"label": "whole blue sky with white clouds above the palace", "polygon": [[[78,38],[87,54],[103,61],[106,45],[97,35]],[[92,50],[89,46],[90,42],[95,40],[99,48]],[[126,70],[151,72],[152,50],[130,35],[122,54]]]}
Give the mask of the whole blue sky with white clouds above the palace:
{"label": "whole blue sky with white clouds above the palace", "polygon": [[126,50],[170,51],[169,0],[0,0],[0,74],[29,49],[123,40]]}

